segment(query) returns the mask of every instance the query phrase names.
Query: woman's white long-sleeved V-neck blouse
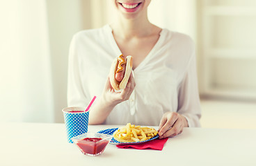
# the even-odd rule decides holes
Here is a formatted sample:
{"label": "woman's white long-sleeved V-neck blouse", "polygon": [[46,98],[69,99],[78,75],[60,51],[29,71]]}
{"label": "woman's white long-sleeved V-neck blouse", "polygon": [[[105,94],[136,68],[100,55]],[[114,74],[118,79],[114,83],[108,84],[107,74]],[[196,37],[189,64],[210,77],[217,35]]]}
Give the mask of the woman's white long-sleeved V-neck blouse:
{"label": "woman's white long-sleeved V-neck blouse", "polygon": [[[109,25],[74,35],[70,44],[68,107],[86,107],[94,95],[101,96],[111,63],[120,54]],[[200,127],[195,48],[190,37],[161,30],[157,44],[133,74],[134,92],[111,111],[105,124],[158,126],[163,113],[174,111],[186,117],[189,127]]]}

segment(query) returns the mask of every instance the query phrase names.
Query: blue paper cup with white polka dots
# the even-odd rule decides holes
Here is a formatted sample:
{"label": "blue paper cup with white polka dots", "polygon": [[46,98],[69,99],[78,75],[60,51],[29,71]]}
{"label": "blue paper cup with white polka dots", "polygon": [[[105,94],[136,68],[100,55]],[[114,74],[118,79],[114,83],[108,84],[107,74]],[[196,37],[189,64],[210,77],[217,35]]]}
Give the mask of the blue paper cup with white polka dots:
{"label": "blue paper cup with white polka dots", "polygon": [[73,143],[71,138],[79,136],[88,131],[89,111],[83,107],[67,107],[63,109],[65,127],[67,131],[67,142]]}

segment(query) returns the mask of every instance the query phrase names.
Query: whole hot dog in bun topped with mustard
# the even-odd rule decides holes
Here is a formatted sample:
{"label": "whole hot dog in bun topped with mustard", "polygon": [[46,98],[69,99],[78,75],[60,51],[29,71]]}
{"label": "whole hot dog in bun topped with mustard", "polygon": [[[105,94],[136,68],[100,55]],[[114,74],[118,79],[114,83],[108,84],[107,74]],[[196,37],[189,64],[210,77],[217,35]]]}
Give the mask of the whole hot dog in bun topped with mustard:
{"label": "whole hot dog in bun topped with mustard", "polygon": [[131,70],[132,57],[130,55],[127,57],[120,55],[113,60],[109,72],[109,79],[113,89],[116,91],[125,89],[131,75]]}

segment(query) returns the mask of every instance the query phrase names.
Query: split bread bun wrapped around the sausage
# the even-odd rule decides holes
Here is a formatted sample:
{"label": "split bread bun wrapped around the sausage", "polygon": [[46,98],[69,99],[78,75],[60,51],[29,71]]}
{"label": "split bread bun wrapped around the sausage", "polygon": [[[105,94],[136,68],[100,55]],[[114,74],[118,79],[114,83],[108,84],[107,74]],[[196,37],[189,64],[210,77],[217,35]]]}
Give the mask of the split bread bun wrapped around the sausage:
{"label": "split bread bun wrapped around the sausage", "polygon": [[119,91],[121,89],[125,89],[127,82],[129,80],[129,77],[131,75],[131,70],[132,70],[132,57],[131,55],[126,57],[126,68],[125,68],[125,75],[122,78],[121,82],[118,82],[117,80],[115,80],[115,72],[117,70],[118,67],[118,58],[115,58],[111,64],[111,68],[109,71],[109,80],[111,83],[111,86],[113,87],[113,89],[115,89],[116,91]]}

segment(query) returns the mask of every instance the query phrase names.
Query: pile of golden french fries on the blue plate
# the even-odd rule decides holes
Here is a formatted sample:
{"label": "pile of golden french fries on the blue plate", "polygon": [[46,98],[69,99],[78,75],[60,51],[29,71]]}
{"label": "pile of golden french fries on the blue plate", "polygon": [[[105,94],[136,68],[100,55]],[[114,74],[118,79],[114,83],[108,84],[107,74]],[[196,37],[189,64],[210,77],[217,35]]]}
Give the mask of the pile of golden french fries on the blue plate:
{"label": "pile of golden french fries on the blue plate", "polygon": [[140,142],[157,136],[157,133],[158,131],[152,127],[141,127],[127,123],[125,127],[117,129],[113,133],[113,137],[119,142]]}

